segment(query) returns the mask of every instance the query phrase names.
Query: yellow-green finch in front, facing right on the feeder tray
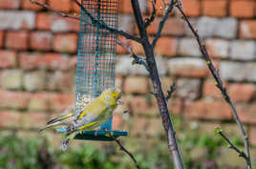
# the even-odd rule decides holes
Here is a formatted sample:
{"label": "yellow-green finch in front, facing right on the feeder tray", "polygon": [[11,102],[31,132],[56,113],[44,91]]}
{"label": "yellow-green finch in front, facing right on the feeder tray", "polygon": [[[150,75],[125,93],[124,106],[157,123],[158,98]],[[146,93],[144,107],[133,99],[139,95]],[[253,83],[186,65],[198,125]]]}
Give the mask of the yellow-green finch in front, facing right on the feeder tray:
{"label": "yellow-green finch in front, facing right on the feeder tray", "polygon": [[68,137],[61,142],[60,149],[66,150],[70,140],[75,137],[77,132],[96,130],[107,122],[117,108],[117,104],[122,103],[121,95],[120,90],[110,88],[92,100],[66,128]]}

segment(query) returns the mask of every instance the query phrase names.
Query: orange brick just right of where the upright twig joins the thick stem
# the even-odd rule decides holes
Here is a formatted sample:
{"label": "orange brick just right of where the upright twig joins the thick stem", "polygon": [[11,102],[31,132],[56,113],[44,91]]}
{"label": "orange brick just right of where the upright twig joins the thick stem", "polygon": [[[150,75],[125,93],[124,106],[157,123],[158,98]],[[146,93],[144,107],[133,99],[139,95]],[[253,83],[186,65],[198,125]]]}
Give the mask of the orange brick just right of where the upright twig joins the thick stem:
{"label": "orange brick just right of where the upright twig joins the thick stem", "polygon": [[171,37],[162,37],[159,39],[155,53],[156,55],[174,56],[177,52],[177,40]]}

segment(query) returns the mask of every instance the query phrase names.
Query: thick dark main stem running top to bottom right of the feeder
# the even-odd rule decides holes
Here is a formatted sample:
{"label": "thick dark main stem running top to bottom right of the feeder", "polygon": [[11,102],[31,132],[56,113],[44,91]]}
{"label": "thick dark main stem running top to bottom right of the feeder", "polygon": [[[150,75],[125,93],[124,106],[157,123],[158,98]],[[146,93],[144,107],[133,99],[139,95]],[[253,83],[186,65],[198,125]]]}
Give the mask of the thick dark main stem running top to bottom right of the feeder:
{"label": "thick dark main stem running top to bottom right of the feeder", "polygon": [[170,117],[170,113],[168,111],[165,96],[162,93],[161,84],[160,84],[160,75],[157,68],[153,48],[148,39],[149,36],[146,30],[144,29],[143,18],[139,8],[139,1],[131,0],[131,2],[132,2],[133,12],[135,14],[136,23],[139,29],[139,35],[140,35],[140,38],[143,39],[142,46],[146,55],[146,62],[149,68],[149,76],[153,84],[154,94],[158,101],[161,122],[166,133],[168,149],[171,154],[170,158],[172,158],[174,161],[175,169],[183,169],[184,167],[181,159],[181,153],[177,143],[176,132],[173,128],[173,124]]}

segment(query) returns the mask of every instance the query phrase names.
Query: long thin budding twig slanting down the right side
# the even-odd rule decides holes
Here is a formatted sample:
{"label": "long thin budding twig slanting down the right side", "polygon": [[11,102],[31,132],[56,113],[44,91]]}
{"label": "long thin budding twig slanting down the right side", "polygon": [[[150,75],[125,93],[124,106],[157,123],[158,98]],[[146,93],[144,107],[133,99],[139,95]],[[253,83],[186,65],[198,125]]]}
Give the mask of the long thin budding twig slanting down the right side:
{"label": "long thin budding twig slanting down the right side", "polygon": [[236,120],[236,122],[237,122],[237,124],[239,126],[239,129],[240,129],[240,131],[242,133],[242,136],[244,137],[244,141],[245,141],[245,155],[246,155],[245,161],[246,161],[246,164],[247,164],[247,169],[251,169],[251,161],[250,161],[250,153],[249,153],[249,143],[248,143],[248,137],[247,137],[247,135],[245,133],[244,125],[241,122],[241,120],[240,120],[240,118],[239,118],[239,116],[237,114],[237,111],[236,111],[236,109],[235,109],[235,107],[234,107],[234,105],[233,105],[229,95],[227,95],[227,93],[226,93],[226,90],[225,90],[224,85],[223,85],[223,81],[222,81],[220,75],[218,74],[218,71],[214,67],[213,62],[212,62],[209,54],[207,53],[205,44],[203,43],[203,39],[199,36],[198,32],[193,28],[192,24],[188,20],[188,17],[184,13],[184,11],[182,11],[181,4],[178,3],[176,5],[176,7],[178,8],[179,11],[181,11],[183,19],[186,21],[186,23],[188,24],[189,29],[195,35],[195,37],[196,37],[196,39],[198,41],[198,44],[200,46],[200,51],[201,51],[201,53],[203,53],[203,57],[204,57],[204,59],[206,61],[206,65],[208,66],[211,74],[213,75],[214,79],[216,80],[216,86],[222,92],[222,95],[224,96],[225,101],[228,103],[228,105],[229,105],[229,107],[231,109],[231,113],[234,116],[234,118],[235,118],[235,120]]}

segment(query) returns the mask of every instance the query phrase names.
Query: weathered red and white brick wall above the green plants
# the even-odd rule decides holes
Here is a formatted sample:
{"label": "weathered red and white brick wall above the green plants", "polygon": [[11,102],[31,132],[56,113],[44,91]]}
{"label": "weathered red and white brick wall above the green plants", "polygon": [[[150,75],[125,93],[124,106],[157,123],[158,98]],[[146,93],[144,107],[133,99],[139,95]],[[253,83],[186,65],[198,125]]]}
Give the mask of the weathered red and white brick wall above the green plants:
{"label": "weathered red and white brick wall above the green plants", "polygon": [[[120,0],[119,29],[138,34],[130,1]],[[71,0],[40,0],[58,11],[76,13]],[[140,0],[147,16],[150,1]],[[61,5],[60,5],[61,4]],[[160,4],[157,4],[160,7]],[[183,0],[183,9],[205,38],[225,86],[256,144],[256,8],[254,0]],[[153,38],[159,16],[148,29]],[[74,101],[78,21],[31,5],[29,0],[0,0],[0,127],[33,131]],[[141,46],[120,37],[135,53]],[[132,135],[162,132],[147,73],[117,48],[116,84],[125,105],[117,109],[115,128]],[[170,16],[156,46],[156,59],[173,114],[206,122],[233,123],[230,110],[209,74],[191,32],[181,18]],[[129,110],[130,115],[122,115]],[[149,117],[149,118],[148,118]]]}

